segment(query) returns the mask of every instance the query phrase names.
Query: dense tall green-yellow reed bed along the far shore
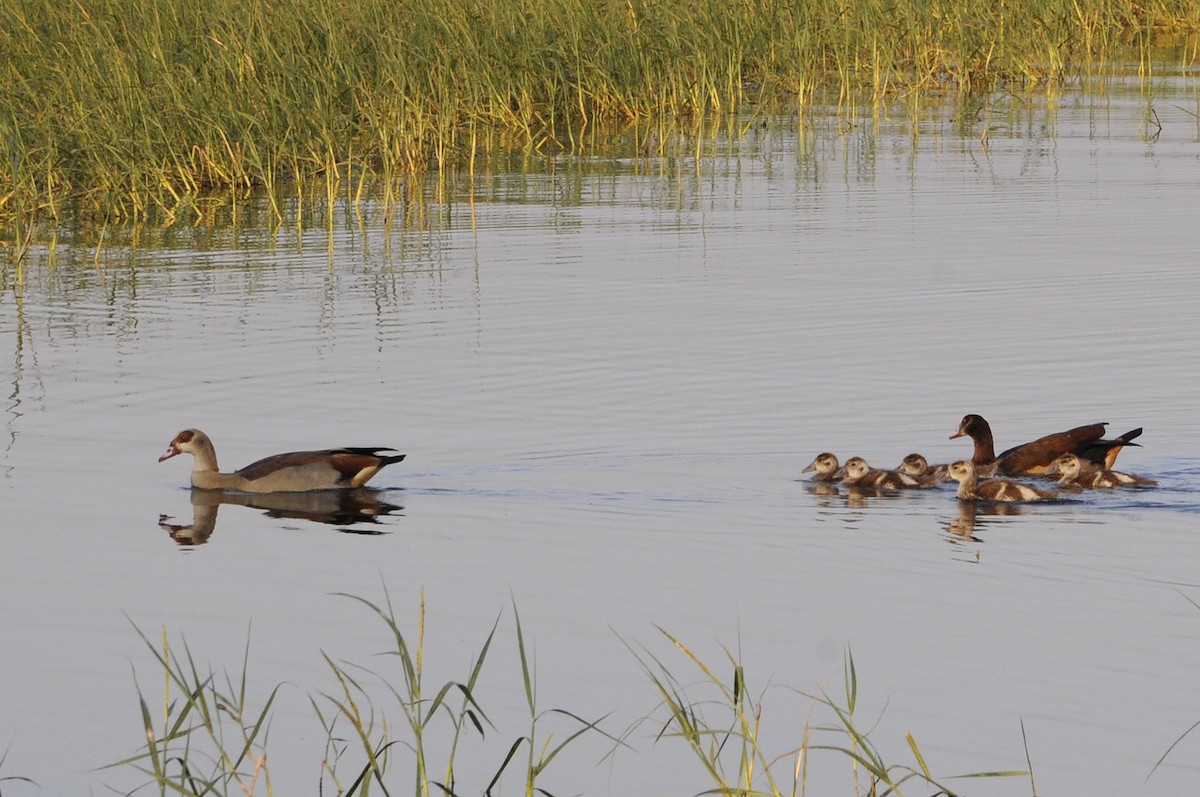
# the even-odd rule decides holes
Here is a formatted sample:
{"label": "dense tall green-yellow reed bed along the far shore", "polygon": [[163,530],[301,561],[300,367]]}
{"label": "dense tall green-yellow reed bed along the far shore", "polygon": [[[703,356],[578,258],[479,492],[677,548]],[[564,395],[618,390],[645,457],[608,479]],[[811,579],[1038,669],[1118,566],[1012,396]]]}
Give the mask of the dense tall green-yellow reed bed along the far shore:
{"label": "dense tall green-yellow reed bed along the far shore", "polygon": [[[0,223],[404,199],[502,150],[654,152],[758,109],[1054,91],[1198,58],[1192,0],[0,0]],[[5,236],[7,238],[7,236]],[[16,240],[20,240],[16,235]]]}

